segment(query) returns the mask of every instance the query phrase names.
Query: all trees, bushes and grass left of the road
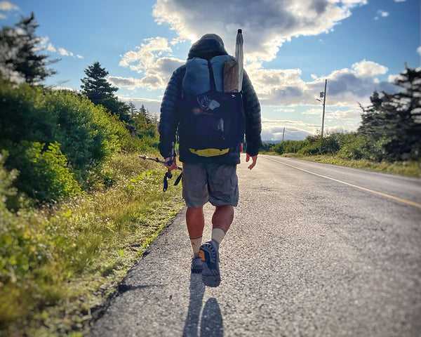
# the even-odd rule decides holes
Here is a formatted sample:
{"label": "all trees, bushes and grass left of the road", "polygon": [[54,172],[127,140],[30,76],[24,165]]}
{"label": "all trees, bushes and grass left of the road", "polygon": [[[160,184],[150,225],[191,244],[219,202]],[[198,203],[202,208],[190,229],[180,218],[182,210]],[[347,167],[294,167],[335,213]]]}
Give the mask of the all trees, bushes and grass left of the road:
{"label": "all trees, bushes and grass left of the road", "polygon": [[82,336],[182,199],[138,157],[158,157],[156,118],[100,62],[80,92],[41,84],[36,27],[0,31],[0,336]]}

